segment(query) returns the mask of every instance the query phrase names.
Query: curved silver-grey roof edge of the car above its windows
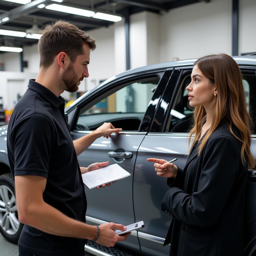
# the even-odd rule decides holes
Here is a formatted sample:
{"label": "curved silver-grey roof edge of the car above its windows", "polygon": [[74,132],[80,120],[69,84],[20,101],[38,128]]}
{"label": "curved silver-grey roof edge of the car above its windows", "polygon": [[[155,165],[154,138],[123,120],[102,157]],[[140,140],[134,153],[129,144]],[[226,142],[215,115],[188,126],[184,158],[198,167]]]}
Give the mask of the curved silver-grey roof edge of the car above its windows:
{"label": "curved silver-grey roof edge of the car above its windows", "polygon": [[[240,66],[256,66],[256,56],[233,56],[232,57],[238,65]],[[158,64],[153,64],[153,65],[148,65],[140,68],[135,68],[135,69],[129,69],[123,73],[120,73],[116,76],[113,76],[104,82],[100,83],[98,86],[94,87],[92,90],[84,93],[80,98],[75,100],[70,106],[68,106],[65,111],[69,110],[71,107],[73,107],[77,102],[82,100],[86,95],[91,94],[95,90],[98,90],[100,87],[104,86],[105,84],[122,78],[124,76],[129,76],[131,74],[135,73],[140,73],[140,72],[145,72],[145,71],[150,71],[150,70],[161,70],[161,69],[166,69],[166,68],[175,68],[175,67],[183,67],[183,66],[193,66],[194,62],[197,60],[195,59],[186,59],[186,60],[176,60],[176,61],[169,61],[169,62],[163,62],[163,63],[158,63]]]}

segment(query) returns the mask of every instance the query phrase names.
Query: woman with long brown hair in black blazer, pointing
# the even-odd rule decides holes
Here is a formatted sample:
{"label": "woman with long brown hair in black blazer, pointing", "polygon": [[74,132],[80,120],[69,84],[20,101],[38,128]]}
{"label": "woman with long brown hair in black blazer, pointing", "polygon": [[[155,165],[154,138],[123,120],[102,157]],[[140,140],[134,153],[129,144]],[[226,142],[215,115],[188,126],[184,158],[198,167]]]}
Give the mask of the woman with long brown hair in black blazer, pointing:
{"label": "woman with long brown hair in black blazer, pointing", "polygon": [[202,57],[186,90],[195,111],[184,170],[147,159],[170,187],[162,201],[173,217],[165,244],[172,256],[241,256],[246,177],[254,166],[241,71],[226,54]]}

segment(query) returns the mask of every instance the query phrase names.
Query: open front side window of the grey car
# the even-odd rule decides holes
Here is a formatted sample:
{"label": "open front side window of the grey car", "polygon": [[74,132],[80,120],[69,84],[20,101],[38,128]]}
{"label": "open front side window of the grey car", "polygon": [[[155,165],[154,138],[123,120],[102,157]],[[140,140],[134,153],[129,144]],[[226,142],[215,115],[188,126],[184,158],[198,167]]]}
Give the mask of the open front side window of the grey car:
{"label": "open front side window of the grey car", "polygon": [[95,130],[111,122],[123,131],[138,131],[158,82],[159,77],[139,79],[119,86],[121,89],[110,95],[99,96],[93,106],[80,110],[76,130]]}

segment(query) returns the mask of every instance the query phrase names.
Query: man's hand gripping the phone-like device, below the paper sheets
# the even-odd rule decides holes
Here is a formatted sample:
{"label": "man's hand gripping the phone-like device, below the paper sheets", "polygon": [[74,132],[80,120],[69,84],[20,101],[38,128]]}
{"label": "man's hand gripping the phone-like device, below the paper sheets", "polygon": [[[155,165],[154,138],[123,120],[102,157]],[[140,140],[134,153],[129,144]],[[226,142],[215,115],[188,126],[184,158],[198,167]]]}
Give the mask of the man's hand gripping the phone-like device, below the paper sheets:
{"label": "man's hand gripping the phone-like device, below the paper sheets", "polygon": [[101,224],[100,226],[100,235],[96,243],[103,246],[111,247],[114,246],[117,242],[125,241],[125,239],[131,234],[131,232],[126,233],[122,236],[117,235],[114,232],[114,229],[126,230],[127,228],[121,224],[115,224],[113,222]]}

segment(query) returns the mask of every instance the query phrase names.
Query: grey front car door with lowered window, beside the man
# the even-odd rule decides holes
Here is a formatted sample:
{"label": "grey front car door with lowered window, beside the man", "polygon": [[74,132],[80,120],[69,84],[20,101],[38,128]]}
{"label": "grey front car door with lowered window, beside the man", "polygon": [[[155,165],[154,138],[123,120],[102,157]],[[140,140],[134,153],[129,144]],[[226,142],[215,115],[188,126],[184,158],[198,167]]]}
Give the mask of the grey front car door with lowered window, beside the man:
{"label": "grey front car door with lowered window, beside the man", "polygon": [[[79,165],[86,167],[94,162],[109,161],[109,165],[117,163],[131,173],[130,177],[110,187],[91,190],[85,187],[87,221],[91,224],[102,221],[123,225],[134,223],[134,164],[138,147],[150,123],[148,115],[154,114],[162,93],[159,91],[166,86],[163,74],[164,71],[154,71],[114,80],[100,87],[94,96],[76,109],[77,118],[71,129],[74,140],[91,133],[104,122],[111,122],[115,127],[123,129],[120,135],[112,134],[108,139],[96,139],[78,156]],[[112,157],[113,152],[115,157]],[[126,247],[139,251],[137,233],[133,232],[133,235],[126,240]]]}

